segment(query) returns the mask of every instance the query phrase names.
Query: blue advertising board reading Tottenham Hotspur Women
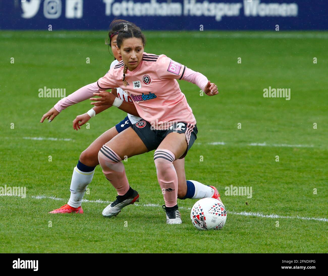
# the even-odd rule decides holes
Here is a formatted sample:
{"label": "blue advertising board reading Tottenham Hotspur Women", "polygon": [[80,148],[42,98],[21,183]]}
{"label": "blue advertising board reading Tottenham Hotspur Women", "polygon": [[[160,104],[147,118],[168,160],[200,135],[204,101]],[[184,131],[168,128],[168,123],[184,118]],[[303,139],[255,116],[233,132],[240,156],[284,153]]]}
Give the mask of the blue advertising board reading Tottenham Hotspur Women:
{"label": "blue advertising board reading Tottenham Hotspur Women", "polygon": [[0,29],[327,30],[327,0],[0,0]]}

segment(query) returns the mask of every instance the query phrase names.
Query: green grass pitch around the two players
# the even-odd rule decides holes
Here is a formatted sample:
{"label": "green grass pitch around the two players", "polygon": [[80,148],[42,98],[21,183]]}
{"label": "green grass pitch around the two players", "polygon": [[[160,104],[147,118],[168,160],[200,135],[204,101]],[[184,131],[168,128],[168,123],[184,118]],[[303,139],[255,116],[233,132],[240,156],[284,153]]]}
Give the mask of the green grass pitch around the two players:
{"label": "green grass pitch around the two players", "polygon": [[[116,192],[98,166],[85,214],[48,214],[67,203],[80,153],[126,114],[111,108],[90,129],[74,131],[72,120],[91,108],[85,101],[40,124],[59,98],[39,98],[38,90],[69,95],[102,77],[113,58],[106,31],[1,31],[0,186],[25,186],[27,195],[0,197],[0,252],[328,252],[328,33],[145,34],[147,53],[165,54],[218,86],[218,96],[200,96],[196,85],[179,81],[198,127],[186,176],[218,188],[226,225],[197,231],[191,199],[178,200],[183,223],[166,225],[153,152],[124,163],[138,205],[104,218],[103,201]],[[290,88],[291,99],[264,98],[269,86]],[[231,184],[252,187],[252,198],[225,195]]]}

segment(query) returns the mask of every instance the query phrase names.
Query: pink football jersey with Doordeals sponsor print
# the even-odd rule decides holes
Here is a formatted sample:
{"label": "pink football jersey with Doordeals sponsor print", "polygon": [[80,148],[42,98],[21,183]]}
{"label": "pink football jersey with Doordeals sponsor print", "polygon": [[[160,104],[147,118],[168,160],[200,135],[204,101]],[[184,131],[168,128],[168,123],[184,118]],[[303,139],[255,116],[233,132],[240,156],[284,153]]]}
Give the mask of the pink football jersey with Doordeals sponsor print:
{"label": "pink football jersey with Doordeals sponsor print", "polygon": [[120,61],[97,82],[100,90],[122,88],[133,100],[144,120],[155,129],[168,129],[173,122],[195,125],[196,120],[176,79],[183,78],[186,67],[165,55],[143,53],[133,71],[127,70],[123,84],[123,61]]}

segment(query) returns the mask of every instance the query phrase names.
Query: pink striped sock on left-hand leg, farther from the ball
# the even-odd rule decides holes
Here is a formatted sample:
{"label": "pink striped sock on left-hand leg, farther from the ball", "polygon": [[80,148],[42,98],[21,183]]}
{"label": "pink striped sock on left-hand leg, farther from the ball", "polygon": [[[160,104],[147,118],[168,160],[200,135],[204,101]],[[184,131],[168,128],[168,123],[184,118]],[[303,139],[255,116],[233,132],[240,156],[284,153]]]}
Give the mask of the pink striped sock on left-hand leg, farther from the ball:
{"label": "pink striped sock on left-hand leg, farther from the ball", "polygon": [[126,178],[122,159],[109,147],[102,146],[98,160],[105,177],[112,183],[119,196],[123,196],[130,188]]}

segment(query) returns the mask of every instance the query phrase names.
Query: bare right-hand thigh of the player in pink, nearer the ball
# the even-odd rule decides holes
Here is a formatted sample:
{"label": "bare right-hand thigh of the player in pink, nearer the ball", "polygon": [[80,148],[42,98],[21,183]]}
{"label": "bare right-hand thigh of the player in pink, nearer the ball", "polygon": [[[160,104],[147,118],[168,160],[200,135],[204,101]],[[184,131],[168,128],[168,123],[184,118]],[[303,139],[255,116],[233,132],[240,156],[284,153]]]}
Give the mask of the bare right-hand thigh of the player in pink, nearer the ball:
{"label": "bare right-hand thigh of the player in pink, nearer the ball", "polygon": [[184,133],[170,132],[157,148],[164,148],[172,151],[176,160],[186,152],[187,147],[188,144]]}

